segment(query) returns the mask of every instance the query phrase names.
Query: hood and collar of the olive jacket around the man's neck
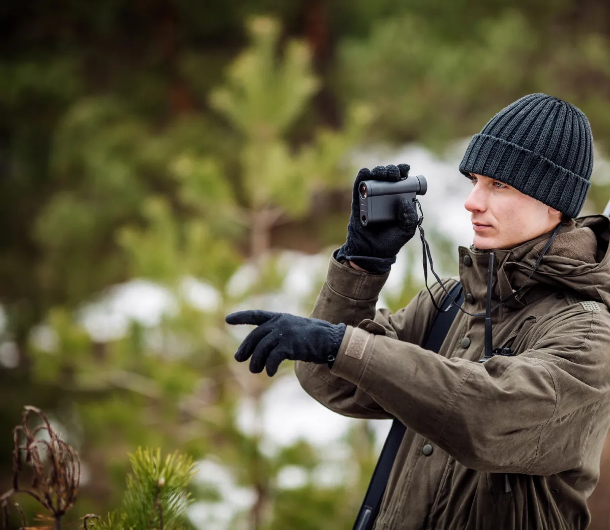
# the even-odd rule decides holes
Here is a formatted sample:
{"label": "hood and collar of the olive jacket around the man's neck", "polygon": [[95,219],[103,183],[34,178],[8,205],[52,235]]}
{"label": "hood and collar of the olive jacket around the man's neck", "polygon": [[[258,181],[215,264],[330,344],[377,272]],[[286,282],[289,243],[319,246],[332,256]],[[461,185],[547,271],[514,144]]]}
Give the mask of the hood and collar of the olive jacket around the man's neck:
{"label": "hood and collar of the olive jacket around the man's neck", "polygon": [[[508,250],[494,250],[496,265],[493,298],[495,303],[506,299],[525,284],[536,265],[540,252],[553,231]],[[509,307],[523,307],[528,298],[536,296],[537,287],[545,285],[558,290],[572,290],[583,298],[610,307],[610,218],[590,215],[562,226],[542,258],[533,276],[517,298],[506,303]],[[484,299],[489,250],[471,246],[460,247],[460,276],[467,292]],[[472,258],[473,267],[462,267],[465,254]]]}

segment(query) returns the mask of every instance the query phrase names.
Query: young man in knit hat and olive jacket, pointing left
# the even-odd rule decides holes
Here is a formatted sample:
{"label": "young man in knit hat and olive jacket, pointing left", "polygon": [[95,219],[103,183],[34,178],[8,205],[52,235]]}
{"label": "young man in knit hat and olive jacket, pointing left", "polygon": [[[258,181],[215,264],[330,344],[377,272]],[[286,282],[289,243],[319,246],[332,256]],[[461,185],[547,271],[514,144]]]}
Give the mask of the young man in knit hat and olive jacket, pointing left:
{"label": "young man in knit hat and olive jacket, pointing left", "polygon": [[[403,204],[397,223],[361,226],[356,188],[397,180],[406,165],[359,173],[348,237],[312,318],[227,317],[260,324],[236,354],[251,370],[297,360],[301,385],[329,409],[407,426],[375,529],[589,525],[610,424],[610,220],[572,219],[592,164],[586,116],[544,94],[515,101],[472,138],[459,167],[472,181],[474,231],[459,248],[462,309],[483,312],[493,250],[493,346],[504,348],[484,363],[483,317],[458,312],[435,354],[421,347],[436,315],[426,290],[396,313],[375,310],[416,220]],[[439,304],[445,293],[436,284],[431,294]]]}

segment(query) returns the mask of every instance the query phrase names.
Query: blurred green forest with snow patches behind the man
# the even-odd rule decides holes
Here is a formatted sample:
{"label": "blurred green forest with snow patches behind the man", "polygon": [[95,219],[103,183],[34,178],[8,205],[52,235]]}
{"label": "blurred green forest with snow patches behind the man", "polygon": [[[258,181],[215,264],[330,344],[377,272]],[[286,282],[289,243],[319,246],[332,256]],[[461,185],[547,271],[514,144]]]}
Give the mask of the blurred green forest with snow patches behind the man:
{"label": "blurred green forest with snow patches behind the man", "polygon": [[[603,0],[2,2],[0,492],[32,404],[81,454],[81,517],[120,503],[141,445],[200,462],[194,527],[350,529],[374,429],[354,420],[340,451],[271,444],[262,404],[292,365],[249,374],[232,357],[245,333],[224,315],[309,313],[325,267],[278,304],[284,251],[326,264],[343,243],[362,150],[440,156],[542,91],[586,113],[602,160],[609,20]],[[590,212],[608,182],[594,177]],[[456,249],[432,239],[451,271]],[[387,306],[421,286],[407,269]],[[156,289],[167,310],[100,320],[128,287]],[[609,528],[606,500],[596,528]]]}

